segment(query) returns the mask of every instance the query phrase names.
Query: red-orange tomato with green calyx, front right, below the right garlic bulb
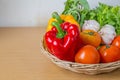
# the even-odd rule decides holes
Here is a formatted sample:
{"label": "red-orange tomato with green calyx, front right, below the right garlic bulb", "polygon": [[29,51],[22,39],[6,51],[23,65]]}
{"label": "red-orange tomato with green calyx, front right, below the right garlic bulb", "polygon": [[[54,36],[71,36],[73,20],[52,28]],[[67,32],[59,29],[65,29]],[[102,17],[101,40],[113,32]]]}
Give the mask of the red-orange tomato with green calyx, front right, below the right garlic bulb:
{"label": "red-orange tomato with green calyx, front right, below the right garlic bulb", "polygon": [[120,60],[120,49],[114,45],[103,45],[99,49],[102,63]]}

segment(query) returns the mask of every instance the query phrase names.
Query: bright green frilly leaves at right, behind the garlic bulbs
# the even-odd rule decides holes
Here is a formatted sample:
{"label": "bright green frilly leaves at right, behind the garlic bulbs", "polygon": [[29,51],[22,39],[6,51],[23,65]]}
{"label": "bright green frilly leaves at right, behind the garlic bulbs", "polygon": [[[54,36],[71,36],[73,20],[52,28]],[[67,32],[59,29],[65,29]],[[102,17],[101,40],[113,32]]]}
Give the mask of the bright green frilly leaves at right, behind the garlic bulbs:
{"label": "bright green frilly leaves at right, behind the garlic bulbs", "polygon": [[115,28],[117,34],[120,34],[120,6],[109,6],[99,3],[99,6],[89,11],[86,18],[94,19],[100,23],[101,27],[109,24]]}

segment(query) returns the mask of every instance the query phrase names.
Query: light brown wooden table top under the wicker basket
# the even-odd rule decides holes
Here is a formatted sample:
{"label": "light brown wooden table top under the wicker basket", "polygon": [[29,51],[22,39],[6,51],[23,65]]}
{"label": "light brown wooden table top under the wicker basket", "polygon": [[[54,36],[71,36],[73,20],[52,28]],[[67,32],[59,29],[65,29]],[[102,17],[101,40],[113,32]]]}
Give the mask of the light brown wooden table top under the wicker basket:
{"label": "light brown wooden table top under the wicker basket", "polygon": [[120,70],[95,76],[53,64],[40,52],[45,27],[0,28],[0,80],[120,80]]}

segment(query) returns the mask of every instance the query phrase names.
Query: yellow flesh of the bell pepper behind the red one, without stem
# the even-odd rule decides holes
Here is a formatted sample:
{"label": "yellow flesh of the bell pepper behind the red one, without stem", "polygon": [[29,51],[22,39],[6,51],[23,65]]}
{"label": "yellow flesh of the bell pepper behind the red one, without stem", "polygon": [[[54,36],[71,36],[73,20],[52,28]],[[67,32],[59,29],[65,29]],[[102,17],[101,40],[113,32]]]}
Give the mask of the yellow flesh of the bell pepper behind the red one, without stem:
{"label": "yellow flesh of the bell pepper behind the red one, without stem", "polygon": [[[77,23],[77,21],[74,19],[74,17],[72,15],[60,15],[60,18],[65,22],[70,22],[71,24],[76,24],[80,29],[80,25]],[[56,19],[50,18],[46,31],[51,30],[51,28],[53,27],[51,23],[53,21],[56,21]]]}

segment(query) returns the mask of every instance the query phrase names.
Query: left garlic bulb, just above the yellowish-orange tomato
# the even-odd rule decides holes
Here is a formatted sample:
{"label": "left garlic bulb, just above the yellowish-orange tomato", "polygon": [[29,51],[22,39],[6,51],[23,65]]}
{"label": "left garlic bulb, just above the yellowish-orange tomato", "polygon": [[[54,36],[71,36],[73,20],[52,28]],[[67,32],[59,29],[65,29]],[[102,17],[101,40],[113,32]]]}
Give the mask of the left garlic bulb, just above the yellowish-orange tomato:
{"label": "left garlic bulb, just above the yellowish-orange tomato", "polygon": [[82,26],[83,30],[94,30],[97,32],[100,29],[100,24],[96,20],[87,20]]}

